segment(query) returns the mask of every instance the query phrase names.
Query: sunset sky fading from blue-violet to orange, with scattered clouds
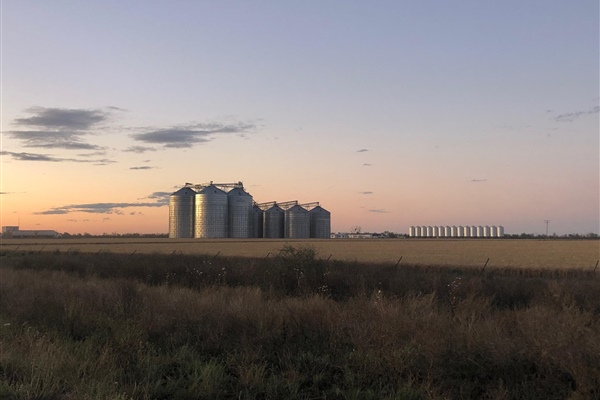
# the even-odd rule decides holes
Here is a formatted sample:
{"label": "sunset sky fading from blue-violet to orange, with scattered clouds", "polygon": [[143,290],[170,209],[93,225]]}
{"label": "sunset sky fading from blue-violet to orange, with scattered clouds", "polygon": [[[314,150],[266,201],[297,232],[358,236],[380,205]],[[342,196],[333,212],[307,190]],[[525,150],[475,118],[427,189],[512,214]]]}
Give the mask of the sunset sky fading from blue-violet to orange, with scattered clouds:
{"label": "sunset sky fading from blue-violet to orange, with scattered clouds", "polygon": [[599,233],[597,0],[1,3],[2,225],[166,233],[186,182],[332,231]]}

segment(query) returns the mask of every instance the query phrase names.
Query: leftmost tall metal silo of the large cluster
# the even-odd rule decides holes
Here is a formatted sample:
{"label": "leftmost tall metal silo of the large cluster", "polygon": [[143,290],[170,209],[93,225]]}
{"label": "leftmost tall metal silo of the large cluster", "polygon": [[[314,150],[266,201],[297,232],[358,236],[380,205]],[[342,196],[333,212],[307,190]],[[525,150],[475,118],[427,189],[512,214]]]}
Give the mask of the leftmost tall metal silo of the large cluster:
{"label": "leftmost tall metal silo of the large cluster", "polygon": [[169,237],[194,237],[196,192],[184,187],[169,196]]}

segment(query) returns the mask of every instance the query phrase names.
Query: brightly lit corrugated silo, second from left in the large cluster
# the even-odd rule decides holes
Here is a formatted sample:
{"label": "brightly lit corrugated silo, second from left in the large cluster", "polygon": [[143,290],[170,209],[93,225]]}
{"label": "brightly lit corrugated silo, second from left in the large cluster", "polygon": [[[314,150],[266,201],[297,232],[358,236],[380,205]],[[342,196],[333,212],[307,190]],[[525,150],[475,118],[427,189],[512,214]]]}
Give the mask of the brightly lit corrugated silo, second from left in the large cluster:
{"label": "brightly lit corrugated silo, second from left in the large cluster", "polygon": [[227,193],[209,185],[196,193],[196,238],[227,237]]}

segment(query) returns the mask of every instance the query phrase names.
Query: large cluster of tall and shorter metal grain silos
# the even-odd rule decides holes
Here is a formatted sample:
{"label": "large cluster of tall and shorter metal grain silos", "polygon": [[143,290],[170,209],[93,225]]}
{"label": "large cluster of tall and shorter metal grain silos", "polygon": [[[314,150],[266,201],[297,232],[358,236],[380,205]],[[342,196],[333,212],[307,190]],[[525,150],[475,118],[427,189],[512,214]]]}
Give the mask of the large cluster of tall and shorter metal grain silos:
{"label": "large cluster of tall and shorter metal grain silos", "polygon": [[170,238],[329,238],[331,213],[318,202],[257,203],[242,182],[186,183],[169,197]]}

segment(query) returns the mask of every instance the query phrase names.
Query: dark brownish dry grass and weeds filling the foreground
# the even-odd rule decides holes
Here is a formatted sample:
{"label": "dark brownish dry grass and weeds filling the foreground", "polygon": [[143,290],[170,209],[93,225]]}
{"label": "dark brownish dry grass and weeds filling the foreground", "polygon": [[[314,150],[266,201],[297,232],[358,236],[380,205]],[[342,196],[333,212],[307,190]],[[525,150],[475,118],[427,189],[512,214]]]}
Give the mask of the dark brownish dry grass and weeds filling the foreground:
{"label": "dark brownish dry grass and weeds filling the foreground", "polygon": [[282,250],[4,255],[0,397],[600,396],[596,274],[365,268]]}

